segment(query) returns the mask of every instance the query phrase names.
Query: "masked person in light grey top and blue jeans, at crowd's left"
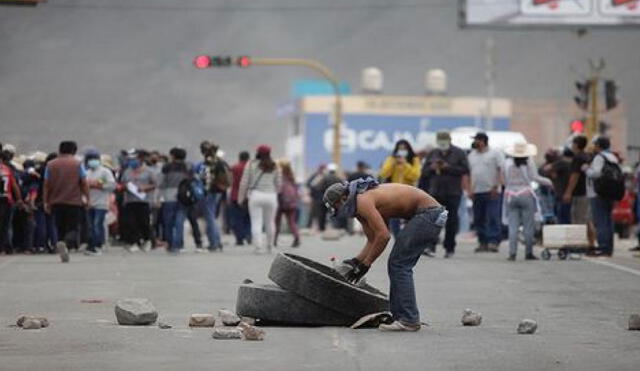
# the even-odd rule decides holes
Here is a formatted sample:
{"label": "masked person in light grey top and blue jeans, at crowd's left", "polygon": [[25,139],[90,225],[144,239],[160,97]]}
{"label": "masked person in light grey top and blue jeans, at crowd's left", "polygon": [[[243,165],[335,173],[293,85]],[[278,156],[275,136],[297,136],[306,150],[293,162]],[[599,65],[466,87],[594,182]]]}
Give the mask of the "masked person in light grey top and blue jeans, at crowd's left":
{"label": "masked person in light grey top and blue jeans, at crowd's left", "polygon": [[104,218],[109,209],[109,197],[116,189],[111,170],[102,165],[100,153],[90,151],[84,157],[89,185],[89,246],[86,255],[100,255],[105,242]]}

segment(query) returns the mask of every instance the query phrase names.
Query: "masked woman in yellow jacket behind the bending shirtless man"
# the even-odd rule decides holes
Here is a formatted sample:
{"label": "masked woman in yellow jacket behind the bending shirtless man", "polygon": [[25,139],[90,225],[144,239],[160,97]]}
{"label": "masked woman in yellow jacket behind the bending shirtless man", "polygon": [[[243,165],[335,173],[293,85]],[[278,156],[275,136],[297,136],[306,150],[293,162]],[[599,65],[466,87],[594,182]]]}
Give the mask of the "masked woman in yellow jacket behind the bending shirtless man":
{"label": "masked woman in yellow jacket behind the bending shirtless man", "polygon": [[[420,177],[420,158],[413,152],[411,144],[401,139],[387,157],[380,169],[380,178],[385,183],[400,183],[415,186]],[[389,220],[389,228],[394,236],[400,232],[402,219],[392,218]]]}

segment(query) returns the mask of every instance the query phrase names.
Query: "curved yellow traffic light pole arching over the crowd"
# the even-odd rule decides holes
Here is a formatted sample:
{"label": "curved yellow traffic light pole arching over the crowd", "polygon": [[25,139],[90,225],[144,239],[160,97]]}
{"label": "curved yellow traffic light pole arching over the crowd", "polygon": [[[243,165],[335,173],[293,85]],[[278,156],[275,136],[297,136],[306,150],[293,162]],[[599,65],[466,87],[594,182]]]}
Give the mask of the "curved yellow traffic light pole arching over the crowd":
{"label": "curved yellow traffic light pole arching over the crowd", "polygon": [[300,66],[311,68],[324,76],[333,88],[336,98],[333,123],[333,162],[341,169],[342,155],[340,147],[340,131],[342,129],[342,95],[340,85],[333,72],[323,64],[313,59],[300,58],[251,58],[251,64],[256,66]]}

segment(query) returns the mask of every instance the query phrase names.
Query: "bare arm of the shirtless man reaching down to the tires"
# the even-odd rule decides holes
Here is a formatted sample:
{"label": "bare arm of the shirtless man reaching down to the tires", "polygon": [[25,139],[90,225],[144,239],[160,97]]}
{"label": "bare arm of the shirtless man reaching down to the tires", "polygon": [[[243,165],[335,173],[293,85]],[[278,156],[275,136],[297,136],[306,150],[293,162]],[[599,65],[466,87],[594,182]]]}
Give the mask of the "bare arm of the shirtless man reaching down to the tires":
{"label": "bare arm of the shirtless man reaching down to the tires", "polygon": [[360,196],[358,199],[358,217],[367,236],[367,244],[358,255],[358,260],[366,266],[371,266],[384,251],[391,234],[375,204],[367,197]]}

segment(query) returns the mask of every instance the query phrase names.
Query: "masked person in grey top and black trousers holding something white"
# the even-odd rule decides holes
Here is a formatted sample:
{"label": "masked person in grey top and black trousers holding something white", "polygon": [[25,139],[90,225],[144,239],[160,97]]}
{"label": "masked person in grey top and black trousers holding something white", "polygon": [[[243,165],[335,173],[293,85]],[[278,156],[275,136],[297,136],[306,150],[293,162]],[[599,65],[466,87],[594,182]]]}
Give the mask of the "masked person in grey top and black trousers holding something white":
{"label": "masked person in grey top and black trousers holding something white", "polygon": [[151,248],[151,209],[150,200],[156,189],[156,178],[145,165],[144,156],[139,151],[129,153],[127,169],[120,179],[120,188],[124,191],[123,233],[125,250],[137,252]]}

